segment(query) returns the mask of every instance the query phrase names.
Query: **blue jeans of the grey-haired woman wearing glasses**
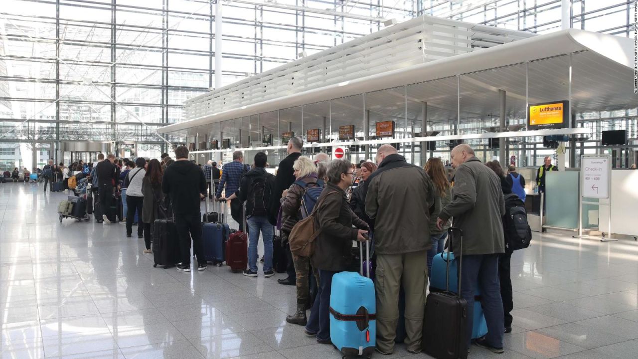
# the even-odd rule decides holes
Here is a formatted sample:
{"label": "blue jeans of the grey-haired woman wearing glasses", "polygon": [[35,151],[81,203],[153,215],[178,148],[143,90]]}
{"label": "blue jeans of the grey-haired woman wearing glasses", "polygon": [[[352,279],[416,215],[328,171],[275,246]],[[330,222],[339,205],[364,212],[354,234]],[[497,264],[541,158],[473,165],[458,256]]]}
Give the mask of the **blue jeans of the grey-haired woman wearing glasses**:
{"label": "blue jeans of the grey-haired woman wearing glasses", "polygon": [[336,273],[338,272],[319,270],[319,289],[306,324],[306,330],[316,333],[319,340],[330,339],[330,288],[332,276]]}

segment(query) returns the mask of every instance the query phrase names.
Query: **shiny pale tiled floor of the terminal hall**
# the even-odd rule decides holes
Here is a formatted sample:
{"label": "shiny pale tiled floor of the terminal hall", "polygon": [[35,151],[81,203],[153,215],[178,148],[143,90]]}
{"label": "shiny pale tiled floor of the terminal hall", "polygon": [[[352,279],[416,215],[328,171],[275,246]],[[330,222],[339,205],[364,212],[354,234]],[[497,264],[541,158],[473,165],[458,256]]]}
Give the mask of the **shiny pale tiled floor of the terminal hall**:
{"label": "shiny pale tiled floor of the terminal hall", "polygon": [[[340,358],[287,325],[294,288],[228,267],[152,267],[124,225],[58,221],[61,193],[0,185],[1,358]],[[505,354],[638,357],[638,245],[535,234],[512,258]],[[381,355],[375,355],[381,357]],[[410,355],[403,345],[390,358]]]}

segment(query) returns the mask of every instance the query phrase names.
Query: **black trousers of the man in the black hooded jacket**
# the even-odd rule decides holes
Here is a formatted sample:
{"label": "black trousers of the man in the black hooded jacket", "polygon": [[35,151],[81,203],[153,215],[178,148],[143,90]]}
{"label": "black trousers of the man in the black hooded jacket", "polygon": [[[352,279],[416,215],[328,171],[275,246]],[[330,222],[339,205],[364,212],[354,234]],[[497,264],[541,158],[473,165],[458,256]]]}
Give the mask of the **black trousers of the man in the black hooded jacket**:
{"label": "black trousers of the man in the black hooded jacket", "polygon": [[206,264],[204,257],[204,243],[202,242],[202,215],[175,214],[175,227],[179,236],[179,249],[182,255],[182,266],[191,265],[191,238],[193,240],[193,254],[197,257],[198,264]]}

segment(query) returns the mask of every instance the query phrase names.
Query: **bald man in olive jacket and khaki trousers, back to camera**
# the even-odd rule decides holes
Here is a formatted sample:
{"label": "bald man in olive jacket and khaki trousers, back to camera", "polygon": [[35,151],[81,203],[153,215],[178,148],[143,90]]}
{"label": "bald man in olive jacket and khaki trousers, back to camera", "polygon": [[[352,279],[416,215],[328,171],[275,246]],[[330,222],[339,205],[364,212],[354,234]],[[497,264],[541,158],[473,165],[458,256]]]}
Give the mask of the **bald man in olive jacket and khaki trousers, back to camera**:
{"label": "bald man in olive jacket and khaki trousers, back to camera", "polygon": [[405,344],[421,351],[426,305],[429,216],[434,186],[426,172],[385,144],[378,169],[364,181],[366,213],[375,221],[376,351],[390,355],[399,321],[399,288],[405,293]]}

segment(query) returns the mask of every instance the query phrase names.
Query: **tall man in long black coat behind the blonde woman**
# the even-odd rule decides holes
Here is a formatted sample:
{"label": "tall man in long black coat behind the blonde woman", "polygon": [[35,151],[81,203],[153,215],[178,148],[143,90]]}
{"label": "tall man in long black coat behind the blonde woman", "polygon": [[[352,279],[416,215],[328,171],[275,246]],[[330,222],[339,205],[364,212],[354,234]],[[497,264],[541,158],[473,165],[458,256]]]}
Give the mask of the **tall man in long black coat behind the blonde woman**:
{"label": "tall man in long black coat behind the blonde woman", "polygon": [[[286,148],[286,153],[288,153],[288,157],[284,158],[279,162],[279,169],[277,170],[277,176],[275,178],[275,188],[272,191],[272,199],[269,203],[271,206],[271,213],[269,220],[271,224],[274,225],[272,218],[277,218],[279,213],[279,207],[281,207],[281,194],[283,194],[284,190],[287,190],[290,185],[295,183],[295,174],[292,169],[292,165],[295,163],[297,158],[301,156],[301,148],[304,146],[304,141],[301,137],[292,137],[288,141],[288,148]],[[283,234],[283,233],[282,233]],[[288,238],[284,236],[282,241],[288,243]],[[286,266],[286,272],[288,272],[288,278],[279,279],[277,282],[279,284],[287,284],[290,286],[295,286],[297,284],[297,276],[295,275],[295,266],[292,263],[292,254],[290,253],[290,247],[286,244],[286,261],[288,265]]]}

